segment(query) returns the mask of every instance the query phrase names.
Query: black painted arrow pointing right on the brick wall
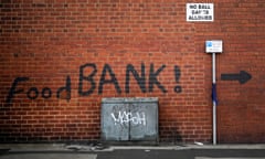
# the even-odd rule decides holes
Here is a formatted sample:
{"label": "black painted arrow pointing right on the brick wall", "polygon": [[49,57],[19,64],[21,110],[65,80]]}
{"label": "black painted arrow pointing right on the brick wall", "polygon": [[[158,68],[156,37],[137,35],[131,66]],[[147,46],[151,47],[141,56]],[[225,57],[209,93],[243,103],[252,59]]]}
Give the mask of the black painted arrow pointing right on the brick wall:
{"label": "black painted arrow pointing right on the brick wall", "polygon": [[245,71],[241,71],[239,74],[221,74],[222,81],[239,81],[240,84],[244,84],[252,78],[252,75]]}

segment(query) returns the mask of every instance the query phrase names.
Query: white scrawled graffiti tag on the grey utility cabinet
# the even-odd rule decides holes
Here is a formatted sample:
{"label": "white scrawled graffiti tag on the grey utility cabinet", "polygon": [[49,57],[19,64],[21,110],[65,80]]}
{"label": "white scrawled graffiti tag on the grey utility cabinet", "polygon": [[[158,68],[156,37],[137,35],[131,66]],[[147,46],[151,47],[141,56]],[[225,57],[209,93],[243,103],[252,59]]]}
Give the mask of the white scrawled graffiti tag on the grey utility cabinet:
{"label": "white scrawled graffiti tag on the grey utility cabinet", "polygon": [[127,113],[127,112],[118,112],[118,116],[116,117],[114,113],[112,113],[113,120],[115,125],[128,124],[131,123],[134,125],[146,125],[146,114],[145,113]]}

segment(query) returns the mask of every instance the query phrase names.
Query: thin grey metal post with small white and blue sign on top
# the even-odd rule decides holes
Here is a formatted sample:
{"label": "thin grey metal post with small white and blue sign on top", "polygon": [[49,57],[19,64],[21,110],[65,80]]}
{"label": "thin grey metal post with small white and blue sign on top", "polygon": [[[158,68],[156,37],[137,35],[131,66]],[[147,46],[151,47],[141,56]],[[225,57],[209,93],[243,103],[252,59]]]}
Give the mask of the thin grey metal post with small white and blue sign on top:
{"label": "thin grey metal post with small white and blue sign on top", "polygon": [[213,102],[213,145],[216,145],[216,53],[223,52],[223,42],[221,40],[206,41],[205,42],[206,53],[212,53],[212,102]]}

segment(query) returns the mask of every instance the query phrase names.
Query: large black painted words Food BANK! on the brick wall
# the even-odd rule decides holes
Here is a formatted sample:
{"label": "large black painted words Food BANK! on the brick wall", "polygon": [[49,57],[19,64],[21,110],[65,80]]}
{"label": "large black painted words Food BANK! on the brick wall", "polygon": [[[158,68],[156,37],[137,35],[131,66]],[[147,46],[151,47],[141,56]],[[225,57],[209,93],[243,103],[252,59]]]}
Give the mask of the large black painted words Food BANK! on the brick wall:
{"label": "large black painted words Food BANK! on the brick wall", "polygon": [[[166,70],[166,65],[161,64],[155,66],[153,63],[149,65],[149,74],[147,74],[147,66],[141,63],[140,68],[136,68],[132,64],[127,64],[125,68],[125,83],[124,92],[126,94],[130,93],[130,83],[136,81],[141,93],[151,93],[155,91],[160,91],[167,93],[168,89],[159,81],[159,76],[162,76],[162,72]],[[97,75],[99,81],[96,81]],[[180,67],[174,65],[174,73],[177,86],[173,88],[176,93],[181,93],[180,86]],[[29,89],[23,89],[22,84],[30,83],[30,77],[17,77],[14,78],[9,94],[7,96],[7,103],[12,103],[18,94],[25,94],[29,99],[44,98],[49,99],[53,96],[53,91],[50,87],[30,87]],[[104,87],[110,85],[114,87],[117,94],[123,93],[121,85],[116,76],[115,70],[109,64],[104,64],[102,71],[98,73],[98,67],[95,63],[86,63],[80,66],[80,77],[78,77],[78,95],[80,96],[89,96],[91,94],[97,93],[103,94]],[[97,89],[97,92],[96,92]],[[59,87],[55,92],[55,96],[59,99],[71,99],[71,76],[67,75],[65,78],[65,84]]]}

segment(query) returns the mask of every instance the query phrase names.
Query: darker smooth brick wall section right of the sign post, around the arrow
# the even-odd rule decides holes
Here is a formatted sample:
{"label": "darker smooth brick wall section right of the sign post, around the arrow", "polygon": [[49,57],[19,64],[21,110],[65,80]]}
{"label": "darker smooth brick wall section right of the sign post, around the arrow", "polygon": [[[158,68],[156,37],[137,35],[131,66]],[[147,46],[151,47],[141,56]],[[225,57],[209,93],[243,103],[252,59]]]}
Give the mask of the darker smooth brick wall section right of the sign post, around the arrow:
{"label": "darker smooth brick wall section right of the sign post, around the arrow", "polygon": [[[231,7],[232,8],[231,8]],[[246,71],[252,80],[245,84],[219,83],[219,139],[222,142],[265,142],[265,19],[258,0],[220,4],[220,31],[225,51],[218,61],[219,73]]]}

